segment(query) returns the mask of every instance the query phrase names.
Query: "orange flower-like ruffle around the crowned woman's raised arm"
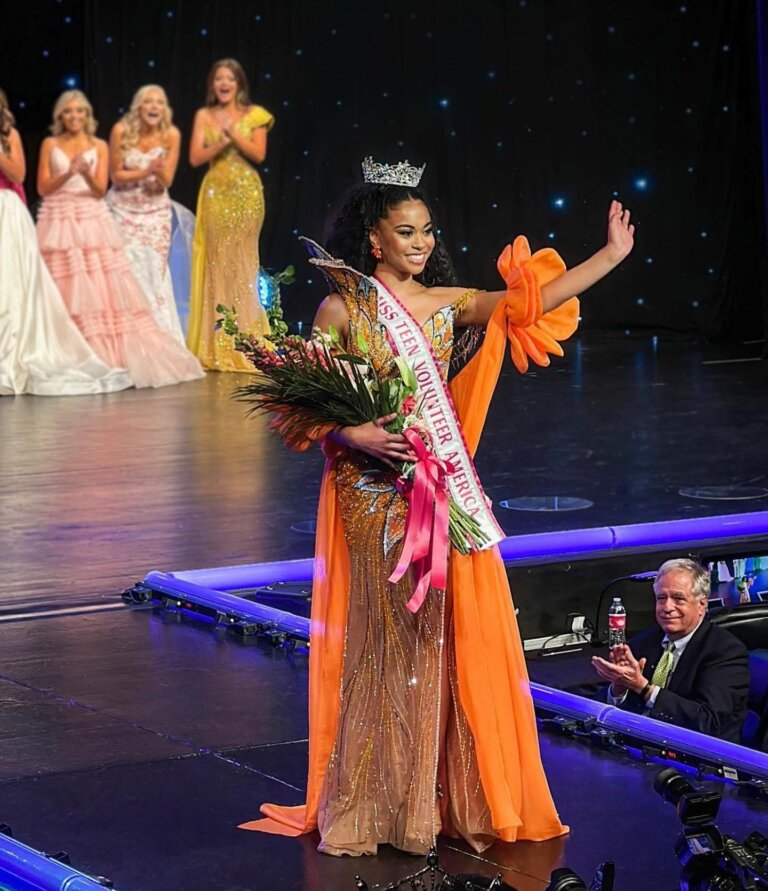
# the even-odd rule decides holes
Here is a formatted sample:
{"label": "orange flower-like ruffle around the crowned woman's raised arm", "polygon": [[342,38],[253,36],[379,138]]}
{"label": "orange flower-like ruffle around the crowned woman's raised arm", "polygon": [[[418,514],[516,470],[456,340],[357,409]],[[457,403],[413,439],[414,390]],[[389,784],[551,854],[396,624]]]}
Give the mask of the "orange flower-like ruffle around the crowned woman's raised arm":
{"label": "orange flower-like ruffle around the crowned woman's raised arm", "polygon": [[562,356],[558,341],[567,340],[579,324],[579,301],[571,297],[557,309],[543,314],[541,289],[565,272],[565,263],[552,248],[531,255],[528,239],[518,235],[497,261],[507,285],[507,296],[494,311],[506,316],[507,339],[515,368],[525,374],[528,360],[549,365],[549,355]]}

